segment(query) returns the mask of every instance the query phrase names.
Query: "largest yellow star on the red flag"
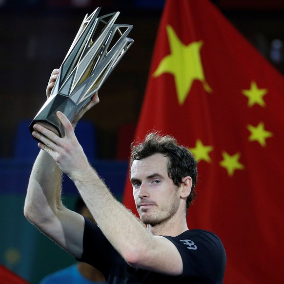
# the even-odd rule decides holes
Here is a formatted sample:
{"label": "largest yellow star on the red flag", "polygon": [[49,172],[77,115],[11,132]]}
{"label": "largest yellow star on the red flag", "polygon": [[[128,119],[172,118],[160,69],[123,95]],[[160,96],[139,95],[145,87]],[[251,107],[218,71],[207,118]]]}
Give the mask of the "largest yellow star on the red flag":
{"label": "largest yellow star on the red flag", "polygon": [[185,45],[170,25],[167,25],[166,30],[171,53],[162,59],[153,76],[158,77],[163,73],[174,76],[180,104],[184,103],[194,80],[202,81],[203,88],[212,92],[204,78],[201,63],[200,48],[203,42],[194,41]]}

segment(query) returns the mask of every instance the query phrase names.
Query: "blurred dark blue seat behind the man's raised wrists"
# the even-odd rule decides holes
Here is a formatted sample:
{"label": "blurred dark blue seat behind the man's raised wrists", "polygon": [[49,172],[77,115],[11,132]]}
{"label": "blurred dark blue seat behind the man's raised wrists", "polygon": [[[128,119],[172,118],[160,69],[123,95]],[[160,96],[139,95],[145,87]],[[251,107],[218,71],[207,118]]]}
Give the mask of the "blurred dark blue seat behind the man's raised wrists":
{"label": "blurred dark blue seat behind the man's raised wrists", "polygon": [[[35,160],[39,147],[37,141],[33,139],[28,126],[32,120],[22,120],[19,122],[16,140],[14,158],[22,160]],[[96,128],[91,121],[80,121],[75,129],[78,141],[84,149],[88,159],[97,158],[97,142],[96,142]]]}

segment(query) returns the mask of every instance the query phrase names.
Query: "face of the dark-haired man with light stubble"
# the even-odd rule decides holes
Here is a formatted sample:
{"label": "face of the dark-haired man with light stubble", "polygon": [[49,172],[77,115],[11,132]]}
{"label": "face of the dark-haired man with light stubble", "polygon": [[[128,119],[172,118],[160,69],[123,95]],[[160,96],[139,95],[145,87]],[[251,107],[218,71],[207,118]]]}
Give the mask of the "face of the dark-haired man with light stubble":
{"label": "face of the dark-haired man with light stubble", "polygon": [[180,206],[177,186],[168,177],[168,160],[154,154],[134,160],[130,179],[135,204],[143,223],[156,225],[169,220]]}

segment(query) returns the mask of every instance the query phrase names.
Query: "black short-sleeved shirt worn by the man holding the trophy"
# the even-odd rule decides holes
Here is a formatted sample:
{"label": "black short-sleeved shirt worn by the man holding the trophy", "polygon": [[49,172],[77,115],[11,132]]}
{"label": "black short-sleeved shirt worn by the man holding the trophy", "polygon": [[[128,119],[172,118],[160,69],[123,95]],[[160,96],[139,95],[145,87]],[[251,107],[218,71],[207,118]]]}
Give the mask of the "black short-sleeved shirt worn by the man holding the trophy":
{"label": "black short-sleeved shirt worn by the man holding the trophy", "polygon": [[223,283],[226,254],[221,240],[215,234],[195,229],[176,237],[163,237],[174,243],[182,256],[183,274],[180,276],[131,267],[108,242],[100,228],[86,218],[83,254],[79,261],[99,269],[107,283],[112,284]]}

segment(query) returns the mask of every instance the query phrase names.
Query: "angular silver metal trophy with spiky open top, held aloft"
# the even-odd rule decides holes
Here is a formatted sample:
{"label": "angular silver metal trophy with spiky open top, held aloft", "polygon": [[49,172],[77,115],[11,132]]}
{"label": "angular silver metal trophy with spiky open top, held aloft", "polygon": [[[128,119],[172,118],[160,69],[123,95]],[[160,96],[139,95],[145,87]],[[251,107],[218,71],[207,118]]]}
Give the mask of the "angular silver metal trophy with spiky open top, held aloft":
{"label": "angular silver metal trophy with spiky open top, held aloft", "polygon": [[33,125],[39,123],[63,137],[64,129],[56,112],[63,112],[72,122],[134,42],[127,38],[132,25],[114,23],[120,12],[98,18],[100,10],[99,7],[85,16],[50,97],[29,125],[31,132]]}

